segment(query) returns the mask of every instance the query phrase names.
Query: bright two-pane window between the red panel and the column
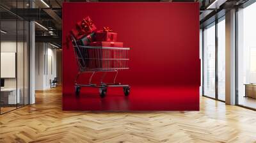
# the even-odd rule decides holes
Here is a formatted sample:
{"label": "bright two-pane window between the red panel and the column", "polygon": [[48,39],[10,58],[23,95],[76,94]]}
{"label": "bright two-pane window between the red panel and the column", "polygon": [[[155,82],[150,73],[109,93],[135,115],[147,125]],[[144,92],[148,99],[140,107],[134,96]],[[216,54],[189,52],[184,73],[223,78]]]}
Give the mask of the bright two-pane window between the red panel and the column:
{"label": "bright two-pane window between the red panel and the column", "polygon": [[203,96],[225,101],[225,16],[203,29]]}

